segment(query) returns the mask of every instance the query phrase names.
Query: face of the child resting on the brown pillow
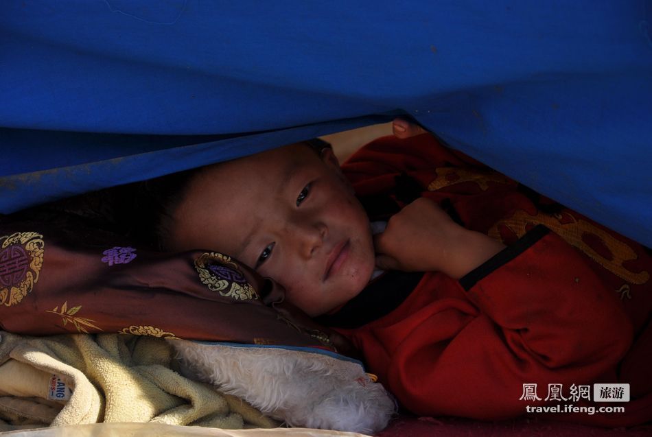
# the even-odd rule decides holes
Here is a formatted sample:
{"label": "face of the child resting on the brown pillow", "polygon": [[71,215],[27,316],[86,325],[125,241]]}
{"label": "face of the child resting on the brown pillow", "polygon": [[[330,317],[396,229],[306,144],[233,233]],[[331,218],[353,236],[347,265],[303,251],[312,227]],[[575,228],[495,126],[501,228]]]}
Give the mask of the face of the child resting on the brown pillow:
{"label": "face of the child resting on the brown pillow", "polygon": [[346,303],[373,272],[369,219],[331,150],[294,144],[207,167],[174,219],[172,248],[231,255],[310,316]]}

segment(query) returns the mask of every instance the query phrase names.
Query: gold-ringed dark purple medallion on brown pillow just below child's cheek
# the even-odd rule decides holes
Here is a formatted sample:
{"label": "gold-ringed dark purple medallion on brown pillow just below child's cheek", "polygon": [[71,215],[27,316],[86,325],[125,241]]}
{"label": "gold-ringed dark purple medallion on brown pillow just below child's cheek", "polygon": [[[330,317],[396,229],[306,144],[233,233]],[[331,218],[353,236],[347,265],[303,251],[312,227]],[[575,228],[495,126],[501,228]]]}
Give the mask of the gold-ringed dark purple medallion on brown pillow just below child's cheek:
{"label": "gold-ringed dark purple medallion on brown pillow just below child's cheek", "polygon": [[235,300],[258,298],[258,294],[231,257],[216,252],[205,253],[195,260],[195,268],[200,281],[213,292]]}

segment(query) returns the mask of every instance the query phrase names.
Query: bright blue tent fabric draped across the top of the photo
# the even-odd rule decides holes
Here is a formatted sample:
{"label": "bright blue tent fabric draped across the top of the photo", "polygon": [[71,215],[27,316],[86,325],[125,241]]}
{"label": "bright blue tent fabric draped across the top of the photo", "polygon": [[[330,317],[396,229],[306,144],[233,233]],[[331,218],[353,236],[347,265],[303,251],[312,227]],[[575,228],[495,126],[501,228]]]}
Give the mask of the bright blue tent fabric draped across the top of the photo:
{"label": "bright blue tent fabric draped across the top of the photo", "polygon": [[410,115],[652,246],[652,1],[3,1],[0,213]]}

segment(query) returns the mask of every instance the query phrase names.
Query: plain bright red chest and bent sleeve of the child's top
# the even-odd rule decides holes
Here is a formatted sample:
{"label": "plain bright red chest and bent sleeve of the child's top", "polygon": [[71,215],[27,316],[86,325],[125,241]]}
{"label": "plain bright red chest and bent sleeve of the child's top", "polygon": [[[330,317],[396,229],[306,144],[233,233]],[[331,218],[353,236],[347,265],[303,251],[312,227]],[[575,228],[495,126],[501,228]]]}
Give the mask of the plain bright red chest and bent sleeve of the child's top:
{"label": "plain bright red chest and bent sleeve of the child's top", "polygon": [[[549,383],[616,382],[607,373],[632,338],[622,305],[560,237],[528,236],[470,279],[429,275],[401,307],[354,335],[408,409],[507,418],[543,405]],[[542,401],[521,400],[524,383],[537,383]]]}

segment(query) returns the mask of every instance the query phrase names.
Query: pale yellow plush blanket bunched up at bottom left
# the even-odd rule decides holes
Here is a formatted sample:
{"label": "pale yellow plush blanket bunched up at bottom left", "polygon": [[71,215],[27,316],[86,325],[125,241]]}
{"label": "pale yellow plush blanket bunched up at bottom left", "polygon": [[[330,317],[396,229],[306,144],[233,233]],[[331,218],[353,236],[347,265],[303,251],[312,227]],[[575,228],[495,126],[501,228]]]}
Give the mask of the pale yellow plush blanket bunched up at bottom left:
{"label": "pale yellow plush blanket bunched up at bottom left", "polygon": [[240,399],[179,375],[173,351],[161,339],[0,337],[0,431],[100,422],[277,425]]}

